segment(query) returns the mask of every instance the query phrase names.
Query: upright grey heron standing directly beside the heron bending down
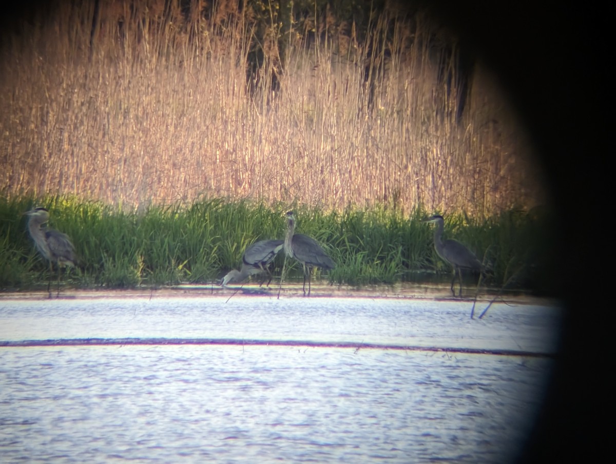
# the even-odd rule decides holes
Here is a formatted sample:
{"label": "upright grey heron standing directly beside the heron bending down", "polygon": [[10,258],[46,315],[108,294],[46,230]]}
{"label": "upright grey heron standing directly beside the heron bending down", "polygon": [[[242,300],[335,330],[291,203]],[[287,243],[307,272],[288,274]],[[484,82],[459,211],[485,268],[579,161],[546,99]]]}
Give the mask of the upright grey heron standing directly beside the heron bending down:
{"label": "upright grey heron standing directly beside the heron bending down", "polygon": [[325,253],[321,245],[314,238],[304,234],[293,234],[295,230],[295,216],[293,211],[286,213],[285,254],[289,258],[297,259],[304,267],[304,296],[306,296],[306,277],[308,277],[308,296],[310,296],[310,274],[313,267],[333,269],[336,266]]}

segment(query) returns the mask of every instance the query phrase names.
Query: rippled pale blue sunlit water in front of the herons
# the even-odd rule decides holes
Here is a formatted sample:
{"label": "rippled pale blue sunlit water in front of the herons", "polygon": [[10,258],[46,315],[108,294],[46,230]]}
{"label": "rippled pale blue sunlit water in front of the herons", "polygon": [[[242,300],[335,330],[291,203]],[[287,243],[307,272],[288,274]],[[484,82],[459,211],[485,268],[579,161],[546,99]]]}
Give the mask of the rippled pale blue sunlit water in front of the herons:
{"label": "rippled pale blue sunlit water in front of the herons", "polygon": [[[555,362],[552,306],[227,298],[0,299],[0,461],[511,462]],[[92,338],[176,344],[6,346]]]}

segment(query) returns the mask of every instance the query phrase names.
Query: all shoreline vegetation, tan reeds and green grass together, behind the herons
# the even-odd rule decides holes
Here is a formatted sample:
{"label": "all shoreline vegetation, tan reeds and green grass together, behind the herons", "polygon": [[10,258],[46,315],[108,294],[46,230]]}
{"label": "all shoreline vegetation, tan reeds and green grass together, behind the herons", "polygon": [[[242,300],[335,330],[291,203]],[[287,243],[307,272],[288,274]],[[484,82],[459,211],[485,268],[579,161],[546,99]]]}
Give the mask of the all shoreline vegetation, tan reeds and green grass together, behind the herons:
{"label": "all shoreline vegetation, tan reeds and green grass together, behind the herons", "polygon": [[292,208],[333,283],[447,274],[440,212],[488,283],[549,289],[540,173],[485,65],[419,6],[289,5],[59,1],[3,30],[0,287],[46,279],[18,216],[45,206],[73,285],[220,279]]}

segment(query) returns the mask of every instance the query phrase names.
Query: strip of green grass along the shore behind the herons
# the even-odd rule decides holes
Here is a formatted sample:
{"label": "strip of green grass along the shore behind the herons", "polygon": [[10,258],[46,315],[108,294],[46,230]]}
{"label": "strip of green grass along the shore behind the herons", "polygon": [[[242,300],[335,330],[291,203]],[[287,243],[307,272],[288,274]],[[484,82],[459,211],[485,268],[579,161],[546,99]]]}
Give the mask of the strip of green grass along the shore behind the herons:
{"label": "strip of green grass along the shore behind the herons", "polygon": [[[159,287],[182,282],[217,282],[238,268],[246,246],[256,240],[284,238],[284,213],[294,210],[296,232],[310,235],[337,263],[315,271],[331,283],[352,286],[416,281],[436,275],[448,282],[451,267],[432,246],[432,226],[411,214],[377,206],[325,211],[303,205],[203,199],[191,205],[152,206],[126,212],[116,206],[75,197],[0,198],[0,288],[28,290],[55,279],[28,236],[23,211],[45,206],[50,227],[68,234],[79,268],[63,275],[73,287]],[[445,238],[468,246],[487,267],[487,285],[554,292],[549,279],[554,243],[546,211],[510,210],[487,219],[466,214],[445,216]],[[280,275],[283,255],[275,261]],[[288,261],[286,274],[300,277],[301,266]]]}

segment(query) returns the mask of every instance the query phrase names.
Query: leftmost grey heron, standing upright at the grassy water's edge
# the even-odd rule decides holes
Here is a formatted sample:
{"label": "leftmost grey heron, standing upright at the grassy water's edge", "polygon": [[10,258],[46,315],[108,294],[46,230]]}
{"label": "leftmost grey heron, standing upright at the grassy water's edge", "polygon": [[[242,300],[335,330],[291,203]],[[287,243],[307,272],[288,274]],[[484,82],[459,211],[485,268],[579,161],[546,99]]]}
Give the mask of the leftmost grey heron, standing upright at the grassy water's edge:
{"label": "leftmost grey heron, standing upright at the grassy water's edge", "polygon": [[[36,249],[43,255],[43,258],[49,261],[49,269],[53,271],[53,263],[58,267],[58,292],[60,292],[60,267],[75,267],[77,263],[75,246],[73,246],[67,234],[43,227],[43,224],[49,220],[47,208],[34,208],[34,210],[26,211],[23,215],[30,217],[28,219],[28,231],[34,240]],[[49,276],[49,283],[47,283],[47,291],[51,296],[50,286],[51,275]]]}

